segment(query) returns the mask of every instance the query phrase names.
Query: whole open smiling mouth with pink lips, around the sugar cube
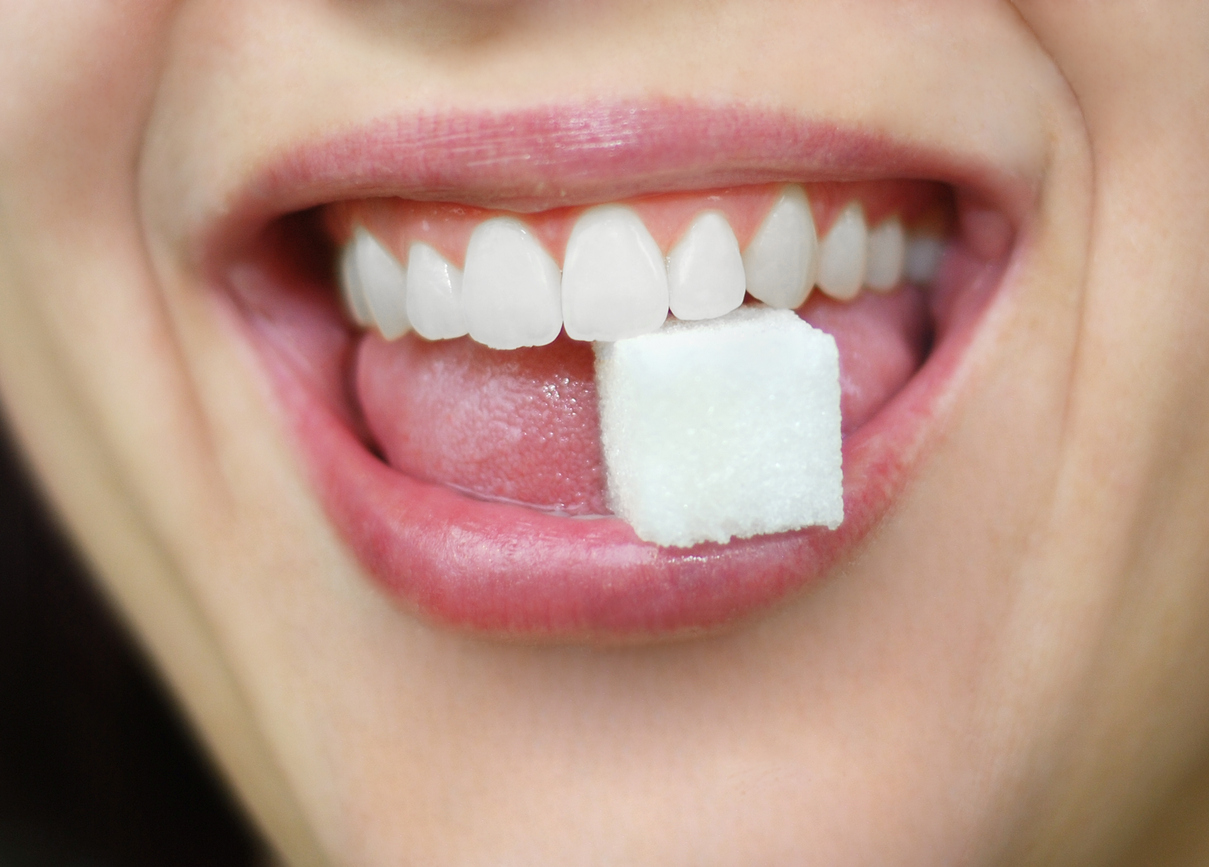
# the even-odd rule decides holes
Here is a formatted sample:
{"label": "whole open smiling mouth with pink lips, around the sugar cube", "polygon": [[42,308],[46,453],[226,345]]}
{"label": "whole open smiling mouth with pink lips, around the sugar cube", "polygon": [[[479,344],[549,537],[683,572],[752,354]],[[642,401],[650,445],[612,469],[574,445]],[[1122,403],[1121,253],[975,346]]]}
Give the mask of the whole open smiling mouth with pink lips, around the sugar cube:
{"label": "whole open smiling mouth with pink lips, around the sugar cube", "polygon": [[[1029,201],[976,160],[792,116],[568,106],[392,120],[300,148],[197,248],[329,520],[387,596],[488,636],[666,640],[765,611],[877,534],[960,397]],[[812,236],[762,259],[774,215],[802,203]],[[742,285],[682,281],[677,296],[672,281],[661,311],[649,294],[572,310],[559,282],[575,227],[601,215],[644,229],[660,260],[712,221]],[[474,273],[499,270],[476,264],[476,238],[494,230],[548,260],[540,304],[474,306]],[[592,341],[652,331],[669,305],[711,319],[754,304],[839,348],[843,521],[646,542],[609,509]]]}

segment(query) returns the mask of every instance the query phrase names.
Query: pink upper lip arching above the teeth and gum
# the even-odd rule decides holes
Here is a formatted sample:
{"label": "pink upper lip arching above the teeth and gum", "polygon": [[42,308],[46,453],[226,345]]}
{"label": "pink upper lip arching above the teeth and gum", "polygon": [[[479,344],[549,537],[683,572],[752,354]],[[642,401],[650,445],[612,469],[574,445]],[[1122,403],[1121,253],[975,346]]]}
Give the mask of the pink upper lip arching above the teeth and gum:
{"label": "pink upper lip arching above the teeth and gum", "polygon": [[1016,225],[1036,193],[1031,179],[978,155],[776,110],[667,102],[434,111],[370,119],[251,167],[189,248],[213,273],[279,216],[372,196],[537,212],[650,192],[889,178],[950,184]]}

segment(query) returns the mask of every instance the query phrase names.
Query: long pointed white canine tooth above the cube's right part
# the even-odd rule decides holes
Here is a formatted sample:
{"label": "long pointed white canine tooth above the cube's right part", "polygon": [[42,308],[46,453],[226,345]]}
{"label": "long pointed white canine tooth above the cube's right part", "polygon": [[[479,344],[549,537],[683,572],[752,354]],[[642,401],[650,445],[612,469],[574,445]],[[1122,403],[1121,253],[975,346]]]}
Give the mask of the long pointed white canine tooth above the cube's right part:
{"label": "long pointed white canine tooth above the cube's right part", "polygon": [[800,186],[787,186],[744,253],[747,291],[769,307],[800,307],[815,283],[818,236]]}

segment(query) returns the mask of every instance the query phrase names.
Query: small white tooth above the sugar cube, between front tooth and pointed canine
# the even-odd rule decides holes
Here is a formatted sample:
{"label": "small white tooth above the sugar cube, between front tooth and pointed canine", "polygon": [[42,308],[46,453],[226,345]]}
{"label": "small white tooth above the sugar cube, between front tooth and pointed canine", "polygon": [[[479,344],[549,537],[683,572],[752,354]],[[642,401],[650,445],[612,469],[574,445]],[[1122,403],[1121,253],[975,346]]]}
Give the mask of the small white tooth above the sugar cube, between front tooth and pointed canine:
{"label": "small white tooth above the sugar cube, between front tooth and pointed canine", "polygon": [[739,242],[716,210],[698,215],[667,255],[667,297],[677,319],[715,319],[744,302]]}

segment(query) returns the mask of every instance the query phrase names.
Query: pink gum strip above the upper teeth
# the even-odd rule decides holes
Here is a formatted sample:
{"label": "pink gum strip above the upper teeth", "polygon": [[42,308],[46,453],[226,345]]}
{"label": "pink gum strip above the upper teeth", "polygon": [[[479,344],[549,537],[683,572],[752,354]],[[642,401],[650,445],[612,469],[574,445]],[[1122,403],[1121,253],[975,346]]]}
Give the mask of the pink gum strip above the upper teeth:
{"label": "pink gum strip above the upper teeth", "polygon": [[[666,254],[688,230],[693,219],[704,210],[725,215],[739,241],[746,248],[756,230],[776,202],[783,184],[740,186],[694,192],[669,192],[617,202],[634,208],[647,231]],[[803,184],[815,227],[825,235],[837,214],[849,202],[864,208],[869,226],[898,214],[908,225],[922,221],[929,225],[948,222],[948,189],[942,184],[921,180],[895,181],[826,181]],[[511,216],[530,227],[560,265],[575,219],[591,206],[554,208],[536,214],[491,210],[447,202],[417,202],[404,198],[366,198],[328,206],[324,219],[337,244],[343,244],[354,226],[364,226],[400,261],[406,261],[407,248],[422,241],[457,267],[464,266],[470,233],[484,220]]]}

